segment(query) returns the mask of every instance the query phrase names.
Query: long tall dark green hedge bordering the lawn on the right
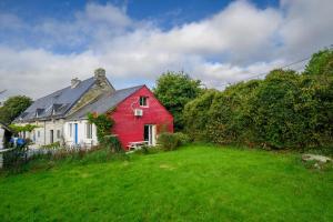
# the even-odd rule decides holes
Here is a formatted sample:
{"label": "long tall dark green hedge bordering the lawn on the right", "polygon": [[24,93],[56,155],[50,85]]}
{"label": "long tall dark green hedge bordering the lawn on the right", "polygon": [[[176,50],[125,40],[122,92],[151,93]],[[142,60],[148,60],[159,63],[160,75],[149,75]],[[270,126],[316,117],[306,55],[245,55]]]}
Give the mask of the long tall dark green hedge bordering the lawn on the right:
{"label": "long tall dark green hedge bordering the lawn on the right", "polygon": [[264,80],[209,90],[189,102],[185,131],[196,141],[271,149],[333,144],[333,75],[274,70]]}

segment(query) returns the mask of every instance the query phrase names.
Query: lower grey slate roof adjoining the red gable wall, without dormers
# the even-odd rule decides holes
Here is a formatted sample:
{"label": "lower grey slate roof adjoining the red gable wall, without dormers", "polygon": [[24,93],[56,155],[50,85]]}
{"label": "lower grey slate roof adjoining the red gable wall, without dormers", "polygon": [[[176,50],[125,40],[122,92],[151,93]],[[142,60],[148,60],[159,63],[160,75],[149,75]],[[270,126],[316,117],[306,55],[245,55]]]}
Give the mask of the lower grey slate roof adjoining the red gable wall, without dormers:
{"label": "lower grey slate roof adjoining the red gable wall, without dormers", "polygon": [[69,120],[87,119],[89,112],[105,113],[107,111],[115,108],[120,102],[125,100],[128,97],[143,88],[144,85],[132,87],[128,89],[117,90],[112,93],[102,94],[91,103],[84,105],[78,112],[69,117]]}

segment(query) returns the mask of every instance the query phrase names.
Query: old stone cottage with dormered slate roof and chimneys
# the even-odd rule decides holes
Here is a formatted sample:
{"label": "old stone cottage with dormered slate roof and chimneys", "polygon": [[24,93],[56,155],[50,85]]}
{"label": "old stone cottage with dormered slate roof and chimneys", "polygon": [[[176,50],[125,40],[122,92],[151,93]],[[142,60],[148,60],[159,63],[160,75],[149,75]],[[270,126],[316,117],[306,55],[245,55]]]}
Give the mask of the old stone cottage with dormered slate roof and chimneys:
{"label": "old stone cottage with dormered slate roof and chimneys", "polygon": [[114,91],[105,78],[105,71],[98,69],[92,78],[83,81],[72,79],[69,87],[36,100],[13,123],[37,125],[32,132],[22,133],[37,145],[54,142],[69,144],[64,129],[67,118],[101,94]]}

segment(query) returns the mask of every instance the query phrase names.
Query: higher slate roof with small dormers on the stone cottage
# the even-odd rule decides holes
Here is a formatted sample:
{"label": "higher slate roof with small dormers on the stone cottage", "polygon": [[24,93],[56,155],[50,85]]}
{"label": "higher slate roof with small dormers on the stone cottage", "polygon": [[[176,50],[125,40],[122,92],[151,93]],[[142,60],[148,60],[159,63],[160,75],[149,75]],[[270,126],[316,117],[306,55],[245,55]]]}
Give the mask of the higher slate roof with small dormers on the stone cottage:
{"label": "higher slate roof with small dormers on the stone cottage", "polygon": [[64,118],[65,113],[93,85],[95,78],[81,81],[75,88],[67,87],[36,100],[14,122]]}

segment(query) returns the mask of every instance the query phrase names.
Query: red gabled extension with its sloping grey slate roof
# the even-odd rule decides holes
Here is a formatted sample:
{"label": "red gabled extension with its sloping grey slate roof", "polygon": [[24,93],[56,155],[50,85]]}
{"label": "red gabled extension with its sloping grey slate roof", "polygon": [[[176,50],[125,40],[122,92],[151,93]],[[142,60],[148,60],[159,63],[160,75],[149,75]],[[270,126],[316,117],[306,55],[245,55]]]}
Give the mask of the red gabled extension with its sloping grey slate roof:
{"label": "red gabled extension with its sloping grey slate roof", "polygon": [[172,114],[145,85],[105,93],[71,119],[84,120],[89,112],[109,113],[114,120],[112,133],[127,150],[135,142],[154,145],[161,132],[173,132]]}

